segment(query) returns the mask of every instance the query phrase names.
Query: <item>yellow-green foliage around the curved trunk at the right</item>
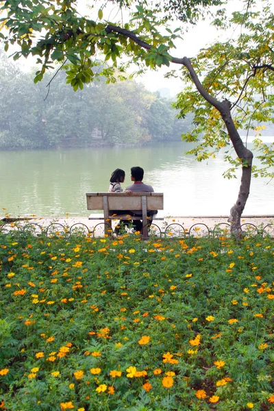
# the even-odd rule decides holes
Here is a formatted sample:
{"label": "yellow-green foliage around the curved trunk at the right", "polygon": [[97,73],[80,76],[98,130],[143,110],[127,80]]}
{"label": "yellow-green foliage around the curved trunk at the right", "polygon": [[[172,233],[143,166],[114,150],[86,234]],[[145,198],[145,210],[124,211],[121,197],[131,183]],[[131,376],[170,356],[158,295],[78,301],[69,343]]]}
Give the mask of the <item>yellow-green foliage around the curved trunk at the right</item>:
{"label": "yellow-green foliage around the curved trunk at the right", "polygon": [[[253,166],[254,177],[273,177],[274,145],[266,145],[260,138],[262,125],[272,132],[269,123],[274,123],[273,22],[269,1],[249,1],[247,8],[232,13],[230,21],[215,21],[220,29],[234,29],[236,34],[225,42],[218,41],[201,50],[192,60],[199,75],[206,73],[203,86],[210,95],[232,103],[236,128],[245,131],[247,140],[250,131],[256,134],[254,150],[261,166]],[[186,70],[184,79],[188,81]],[[182,116],[188,112],[195,113],[195,128],[183,138],[198,142],[197,147],[190,151],[197,155],[197,160],[214,157],[229,146],[229,135],[223,127],[220,113],[192,86],[178,96],[175,107],[181,110]],[[232,177],[242,163],[240,159],[237,161],[231,157],[229,149],[226,158],[232,168],[225,177]]]}

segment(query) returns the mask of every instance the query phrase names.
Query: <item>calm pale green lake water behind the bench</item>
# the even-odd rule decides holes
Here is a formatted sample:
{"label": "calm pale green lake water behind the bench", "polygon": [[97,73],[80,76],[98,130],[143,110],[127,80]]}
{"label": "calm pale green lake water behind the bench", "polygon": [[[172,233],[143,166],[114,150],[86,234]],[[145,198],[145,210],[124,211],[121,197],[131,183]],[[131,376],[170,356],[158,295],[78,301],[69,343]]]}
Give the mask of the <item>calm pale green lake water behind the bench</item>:
{"label": "calm pale green lake water behind the bench", "polygon": [[[107,191],[110,174],[130,167],[145,169],[144,182],[164,192],[164,214],[228,214],[236,201],[239,179],[223,179],[223,155],[198,163],[184,155],[184,142],[140,148],[92,148],[60,151],[0,151],[0,211],[12,215],[88,216],[88,191]],[[253,179],[244,214],[274,214],[274,183]],[[2,213],[3,212],[3,213]]]}

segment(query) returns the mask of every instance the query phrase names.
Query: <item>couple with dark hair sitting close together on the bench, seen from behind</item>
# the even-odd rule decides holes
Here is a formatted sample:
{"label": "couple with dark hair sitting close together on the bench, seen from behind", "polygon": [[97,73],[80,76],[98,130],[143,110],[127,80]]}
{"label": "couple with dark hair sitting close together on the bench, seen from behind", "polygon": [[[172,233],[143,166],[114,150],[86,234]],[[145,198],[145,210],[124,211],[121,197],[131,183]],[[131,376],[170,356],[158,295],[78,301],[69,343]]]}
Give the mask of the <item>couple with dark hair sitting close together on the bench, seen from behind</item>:
{"label": "couple with dark hair sitting close together on the bench, seen from behind", "polygon": [[[144,184],[142,179],[144,177],[144,170],[141,167],[132,167],[131,169],[131,178],[133,184],[127,186],[125,192],[129,195],[132,192],[154,192],[153,188],[148,184]],[[116,169],[111,177],[110,177],[110,188],[108,189],[109,192],[123,192],[123,188],[121,187],[121,183],[125,181],[125,171],[121,169]],[[129,216],[142,216],[142,210],[110,210],[110,214],[129,214]],[[157,210],[149,210],[147,212],[147,216],[149,219],[147,220],[147,225],[150,227],[153,219],[153,214],[157,214]],[[116,234],[120,233],[121,224],[123,223],[124,227],[128,225],[132,225],[135,231],[141,232],[142,231],[142,221],[141,220],[120,220],[119,224],[116,225],[114,232]]]}

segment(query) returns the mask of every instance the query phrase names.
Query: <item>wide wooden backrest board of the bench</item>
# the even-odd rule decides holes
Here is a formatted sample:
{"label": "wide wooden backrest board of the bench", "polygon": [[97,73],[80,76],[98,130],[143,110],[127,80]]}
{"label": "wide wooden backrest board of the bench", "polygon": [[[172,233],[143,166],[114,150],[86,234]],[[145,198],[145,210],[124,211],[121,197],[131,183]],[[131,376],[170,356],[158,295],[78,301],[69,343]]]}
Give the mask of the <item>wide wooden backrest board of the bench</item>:
{"label": "wide wooden backrest board of the bench", "polygon": [[147,200],[147,210],[164,210],[162,192],[86,192],[88,210],[142,210],[142,198]]}

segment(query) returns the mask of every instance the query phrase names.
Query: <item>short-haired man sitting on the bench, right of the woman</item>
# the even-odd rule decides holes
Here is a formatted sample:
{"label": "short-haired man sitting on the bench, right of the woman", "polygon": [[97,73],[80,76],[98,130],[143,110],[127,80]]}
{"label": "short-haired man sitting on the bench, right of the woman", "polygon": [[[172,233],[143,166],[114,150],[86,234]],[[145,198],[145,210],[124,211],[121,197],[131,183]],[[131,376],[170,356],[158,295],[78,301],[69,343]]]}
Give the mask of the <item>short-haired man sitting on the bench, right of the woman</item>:
{"label": "short-haired man sitting on the bench, right of the woman", "polygon": [[[130,186],[128,186],[125,190],[130,190],[132,192],[154,192],[153,188],[149,186],[149,184],[145,184],[142,182],[142,179],[144,177],[144,170],[142,167],[132,167],[131,169],[132,172],[132,182]],[[141,210],[131,210],[132,214],[134,216],[142,216],[142,211]],[[150,216],[151,218],[147,221],[148,225],[151,225],[152,219],[153,219],[153,214],[157,214],[157,210],[150,210],[147,212],[147,216]],[[142,221],[141,220],[134,220],[133,223],[134,228],[136,231],[142,231]]]}

